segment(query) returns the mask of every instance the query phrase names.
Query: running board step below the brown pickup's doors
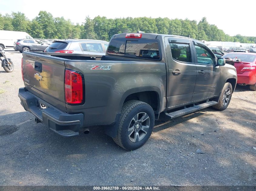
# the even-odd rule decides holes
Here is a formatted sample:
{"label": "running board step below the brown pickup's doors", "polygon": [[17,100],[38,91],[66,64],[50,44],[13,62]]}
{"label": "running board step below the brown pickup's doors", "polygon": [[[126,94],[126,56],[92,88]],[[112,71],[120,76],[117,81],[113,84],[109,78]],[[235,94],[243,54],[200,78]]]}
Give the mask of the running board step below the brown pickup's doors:
{"label": "running board step below the brown pickup's doors", "polygon": [[179,117],[179,116],[182,116],[182,115],[186,115],[188,113],[192,113],[192,112],[197,111],[197,110],[204,109],[206,107],[210,107],[210,106],[215,105],[217,103],[218,102],[216,102],[216,101],[208,101],[206,103],[201,103],[199,105],[194,105],[193,107],[188,107],[188,108],[178,110],[178,111],[174,111],[174,112],[171,112],[171,113],[165,112],[165,115],[168,115],[169,117],[171,117],[171,119],[173,119],[175,117]]}

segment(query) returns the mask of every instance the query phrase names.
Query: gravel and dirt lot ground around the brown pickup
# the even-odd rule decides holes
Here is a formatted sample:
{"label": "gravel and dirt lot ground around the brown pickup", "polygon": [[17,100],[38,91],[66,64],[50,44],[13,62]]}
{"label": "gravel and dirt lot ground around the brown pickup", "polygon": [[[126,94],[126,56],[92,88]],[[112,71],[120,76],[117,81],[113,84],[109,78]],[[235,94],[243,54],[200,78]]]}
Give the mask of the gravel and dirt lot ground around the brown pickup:
{"label": "gravel and dirt lot ground around the brown pickup", "polygon": [[15,68],[0,68],[0,185],[256,185],[256,92],[248,87],[238,86],[224,111],[161,115],[148,142],[125,151],[96,126],[64,138],[35,124],[18,98],[22,54],[6,54]]}

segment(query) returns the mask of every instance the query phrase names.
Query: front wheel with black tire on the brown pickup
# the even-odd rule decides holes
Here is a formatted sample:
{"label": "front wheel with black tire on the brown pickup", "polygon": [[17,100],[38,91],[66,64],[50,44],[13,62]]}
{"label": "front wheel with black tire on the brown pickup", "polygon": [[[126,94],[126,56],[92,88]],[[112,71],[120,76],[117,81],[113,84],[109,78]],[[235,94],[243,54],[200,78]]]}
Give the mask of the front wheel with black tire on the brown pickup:
{"label": "front wheel with black tire on the brown pickup", "polygon": [[[230,94],[228,94],[230,92]],[[226,82],[222,88],[221,95],[219,97],[218,103],[212,107],[216,110],[225,110],[232,97],[232,85],[229,82]],[[228,100],[227,100],[228,99]]]}

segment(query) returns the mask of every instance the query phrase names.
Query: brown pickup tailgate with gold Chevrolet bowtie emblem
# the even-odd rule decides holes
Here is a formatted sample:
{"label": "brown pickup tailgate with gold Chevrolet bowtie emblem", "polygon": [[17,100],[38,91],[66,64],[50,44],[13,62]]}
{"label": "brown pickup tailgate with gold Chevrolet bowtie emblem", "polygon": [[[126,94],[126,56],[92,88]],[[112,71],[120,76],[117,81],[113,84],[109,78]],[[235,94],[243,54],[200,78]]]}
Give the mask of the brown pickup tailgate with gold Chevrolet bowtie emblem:
{"label": "brown pickup tailgate with gold Chevrolet bowtie emblem", "polygon": [[37,53],[23,53],[25,88],[42,100],[66,111],[64,95],[65,59]]}

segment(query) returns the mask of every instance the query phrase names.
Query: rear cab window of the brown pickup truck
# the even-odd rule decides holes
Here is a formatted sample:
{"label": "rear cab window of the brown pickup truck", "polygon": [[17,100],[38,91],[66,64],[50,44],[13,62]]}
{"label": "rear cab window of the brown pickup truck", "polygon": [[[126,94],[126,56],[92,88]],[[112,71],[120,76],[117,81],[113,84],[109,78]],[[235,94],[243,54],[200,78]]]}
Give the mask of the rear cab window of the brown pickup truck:
{"label": "rear cab window of the brown pickup truck", "polygon": [[159,43],[155,39],[114,38],[108,46],[109,56],[160,60]]}

